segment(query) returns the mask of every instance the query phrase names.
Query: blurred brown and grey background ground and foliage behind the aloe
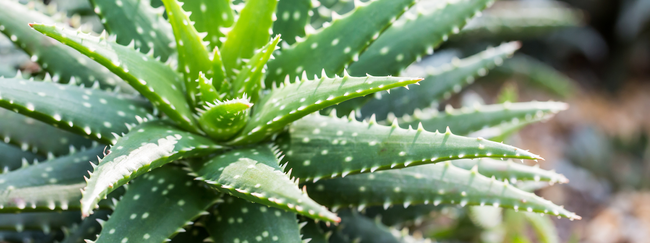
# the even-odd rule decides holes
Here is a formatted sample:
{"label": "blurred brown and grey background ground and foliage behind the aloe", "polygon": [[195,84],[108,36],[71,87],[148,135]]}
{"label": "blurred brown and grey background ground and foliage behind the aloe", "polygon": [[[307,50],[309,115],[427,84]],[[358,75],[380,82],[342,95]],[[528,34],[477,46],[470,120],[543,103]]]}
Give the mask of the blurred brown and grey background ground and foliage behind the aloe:
{"label": "blurred brown and grey background ground and foliage behind the aloe", "polygon": [[[354,7],[353,1],[313,3],[314,28],[331,21],[332,14]],[[419,5],[429,3],[436,1]],[[102,30],[86,0],[29,4],[72,27]],[[152,5],[161,4],[152,1]],[[389,225],[386,231],[393,235],[439,242],[650,242],[650,0],[497,1],[403,75],[424,76],[428,67],[511,40],[523,44],[515,57],[467,88],[458,87],[457,94],[445,94],[450,97],[448,103],[432,107],[444,110],[448,105],[549,99],[569,103],[569,110],[548,122],[526,127],[504,124],[501,129],[512,133],[494,139],[545,155],[546,160],[539,161],[541,168],[563,173],[571,183],[545,187],[519,182],[519,187],[565,205],[583,220],[571,222],[492,207],[433,205],[395,206],[386,212],[370,207],[350,216],[357,217],[358,224],[379,221]],[[0,35],[0,76],[13,77],[16,70],[23,77],[44,75],[38,64]],[[489,132],[477,131],[472,136]],[[0,157],[6,149],[14,147],[0,142]],[[39,157],[34,155],[34,159]],[[62,236],[61,231],[17,232],[4,228],[4,221],[10,219],[0,219],[0,242],[51,242]],[[198,226],[174,241],[204,238]]]}

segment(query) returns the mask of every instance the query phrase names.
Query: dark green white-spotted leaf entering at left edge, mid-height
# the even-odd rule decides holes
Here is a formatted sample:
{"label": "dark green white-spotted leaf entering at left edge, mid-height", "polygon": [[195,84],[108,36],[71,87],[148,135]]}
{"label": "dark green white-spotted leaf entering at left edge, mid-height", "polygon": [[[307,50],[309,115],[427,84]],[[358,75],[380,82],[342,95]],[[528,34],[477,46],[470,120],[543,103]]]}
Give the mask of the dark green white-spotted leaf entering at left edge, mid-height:
{"label": "dark green white-spotted leaf entering at left edge, mid-height", "polygon": [[149,103],[118,93],[69,84],[0,78],[0,107],[103,144],[125,133],[136,116],[152,117]]}

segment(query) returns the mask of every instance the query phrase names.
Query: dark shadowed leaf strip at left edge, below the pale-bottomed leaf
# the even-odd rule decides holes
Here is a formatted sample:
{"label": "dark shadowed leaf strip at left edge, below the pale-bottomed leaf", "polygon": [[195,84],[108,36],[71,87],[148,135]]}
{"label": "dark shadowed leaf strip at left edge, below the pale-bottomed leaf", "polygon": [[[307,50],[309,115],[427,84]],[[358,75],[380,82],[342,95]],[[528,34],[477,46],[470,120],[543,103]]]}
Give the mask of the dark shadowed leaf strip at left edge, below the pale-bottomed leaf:
{"label": "dark shadowed leaf strip at left edge, below the pale-bottomed leaf", "polygon": [[0,214],[0,231],[40,230],[51,233],[80,221],[78,211],[6,213]]}

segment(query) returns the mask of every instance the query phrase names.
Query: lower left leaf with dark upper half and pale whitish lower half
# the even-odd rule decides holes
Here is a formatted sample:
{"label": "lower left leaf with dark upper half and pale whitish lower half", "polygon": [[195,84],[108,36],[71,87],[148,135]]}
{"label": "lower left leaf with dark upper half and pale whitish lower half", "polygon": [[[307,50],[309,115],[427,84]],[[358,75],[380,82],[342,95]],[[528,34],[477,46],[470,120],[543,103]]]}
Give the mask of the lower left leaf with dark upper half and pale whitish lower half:
{"label": "lower left leaf with dark upper half and pale whitish lower half", "polygon": [[[84,176],[102,147],[0,174],[0,212],[79,209]],[[119,196],[119,194],[115,194]],[[101,208],[110,207],[102,201]]]}

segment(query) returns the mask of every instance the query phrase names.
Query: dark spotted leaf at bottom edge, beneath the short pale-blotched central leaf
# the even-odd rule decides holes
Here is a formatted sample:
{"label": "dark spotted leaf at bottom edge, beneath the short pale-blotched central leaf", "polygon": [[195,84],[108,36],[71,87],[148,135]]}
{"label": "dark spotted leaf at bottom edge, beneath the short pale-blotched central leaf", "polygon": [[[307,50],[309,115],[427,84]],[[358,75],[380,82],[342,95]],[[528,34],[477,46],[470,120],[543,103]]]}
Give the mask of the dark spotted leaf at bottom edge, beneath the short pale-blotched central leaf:
{"label": "dark spotted leaf at bottom edge, beneath the short pale-blotched central leaf", "polygon": [[302,243],[294,212],[226,196],[207,222],[214,242]]}

